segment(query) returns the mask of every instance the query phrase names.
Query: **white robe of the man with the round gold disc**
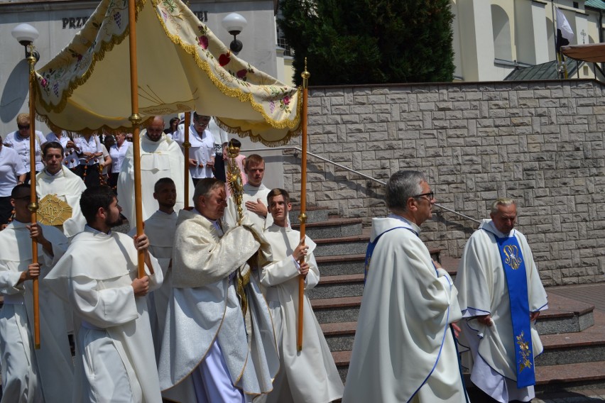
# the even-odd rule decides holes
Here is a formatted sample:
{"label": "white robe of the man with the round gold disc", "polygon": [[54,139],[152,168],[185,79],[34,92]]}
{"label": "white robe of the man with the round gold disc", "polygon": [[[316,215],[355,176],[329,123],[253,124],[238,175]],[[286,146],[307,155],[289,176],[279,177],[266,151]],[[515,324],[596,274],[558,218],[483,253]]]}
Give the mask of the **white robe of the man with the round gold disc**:
{"label": "white robe of the man with the round gold disc", "polygon": [[71,218],[63,223],[63,233],[67,237],[82,232],[86,225],[86,219],[80,209],[80,197],[85,189],[86,185],[82,178],[65,166],[61,166],[61,170],[55,175],[50,175],[45,169],[36,175],[38,199],[42,199],[47,194],[55,194],[58,199],[67,202],[72,208]]}

